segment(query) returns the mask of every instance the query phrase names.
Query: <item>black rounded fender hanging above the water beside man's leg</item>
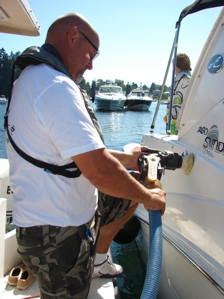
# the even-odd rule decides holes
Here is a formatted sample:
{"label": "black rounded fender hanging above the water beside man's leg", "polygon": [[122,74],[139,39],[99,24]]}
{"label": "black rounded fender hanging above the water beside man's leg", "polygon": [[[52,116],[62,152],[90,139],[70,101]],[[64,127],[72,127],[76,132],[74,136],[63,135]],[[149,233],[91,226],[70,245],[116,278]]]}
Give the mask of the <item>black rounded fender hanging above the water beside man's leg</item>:
{"label": "black rounded fender hanging above the water beside man's leg", "polygon": [[118,244],[127,244],[133,241],[139,232],[140,223],[136,216],[132,216],[118,231],[113,241]]}

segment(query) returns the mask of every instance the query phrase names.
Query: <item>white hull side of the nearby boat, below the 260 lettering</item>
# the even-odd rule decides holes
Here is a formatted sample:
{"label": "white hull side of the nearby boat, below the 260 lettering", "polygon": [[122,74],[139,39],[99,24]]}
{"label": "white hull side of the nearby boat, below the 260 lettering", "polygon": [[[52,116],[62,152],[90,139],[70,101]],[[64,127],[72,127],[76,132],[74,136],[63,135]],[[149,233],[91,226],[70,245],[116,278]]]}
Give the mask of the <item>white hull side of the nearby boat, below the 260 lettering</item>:
{"label": "white hull side of the nearby boat, below the 260 lettering", "polygon": [[[221,137],[221,139],[224,139]],[[202,144],[201,144],[202,143]],[[166,191],[163,225],[163,263],[159,299],[224,298],[224,167],[212,157],[177,140],[145,134],[142,146],[166,149],[181,154],[193,152],[191,173],[165,170],[161,178]],[[144,238],[140,250],[147,263],[148,213],[139,205],[135,215],[140,219]],[[142,244],[147,244],[142,248]]]}

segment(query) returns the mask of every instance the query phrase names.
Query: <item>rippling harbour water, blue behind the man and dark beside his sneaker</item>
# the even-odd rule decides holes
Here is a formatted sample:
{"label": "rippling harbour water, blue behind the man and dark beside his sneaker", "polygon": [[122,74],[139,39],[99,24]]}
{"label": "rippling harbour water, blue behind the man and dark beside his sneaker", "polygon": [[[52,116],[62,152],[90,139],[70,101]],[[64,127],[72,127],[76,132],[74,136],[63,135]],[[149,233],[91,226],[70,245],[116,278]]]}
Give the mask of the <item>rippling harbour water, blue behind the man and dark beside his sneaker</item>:
{"label": "rippling harbour water, blue behind the man and dark beside his sneaker", "polygon": [[[142,135],[151,129],[157,102],[152,102],[150,111],[122,111],[102,112],[96,110],[97,118],[104,133],[105,144],[108,149],[121,150],[129,143],[140,144]],[[0,158],[7,158],[4,142],[3,117],[5,103],[0,103]],[[166,105],[160,105],[155,133],[165,134],[163,117],[166,114]],[[135,241],[126,245],[112,242],[113,262],[122,265],[123,275],[117,279],[121,299],[139,299],[144,285],[145,271]]]}

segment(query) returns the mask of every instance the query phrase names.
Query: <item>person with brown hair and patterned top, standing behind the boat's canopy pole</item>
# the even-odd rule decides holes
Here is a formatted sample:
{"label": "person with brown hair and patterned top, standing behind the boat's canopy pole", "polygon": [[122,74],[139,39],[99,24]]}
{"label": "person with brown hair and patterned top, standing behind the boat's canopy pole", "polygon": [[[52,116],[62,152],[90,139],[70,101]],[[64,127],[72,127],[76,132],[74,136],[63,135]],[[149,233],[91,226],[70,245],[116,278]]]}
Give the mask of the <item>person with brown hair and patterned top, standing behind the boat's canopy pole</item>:
{"label": "person with brown hair and patterned top, standing behind the boat's canopy pole", "polygon": [[[184,101],[186,91],[191,79],[191,61],[187,54],[178,53],[176,68],[175,68],[175,81],[174,81],[174,93],[173,93],[173,105],[172,105],[172,115],[170,123],[171,134],[177,135],[178,131],[176,130],[177,118],[180,113],[182,103]],[[167,110],[166,115],[163,118],[165,123],[168,123],[169,117],[169,108],[170,101],[168,98],[167,101]]]}

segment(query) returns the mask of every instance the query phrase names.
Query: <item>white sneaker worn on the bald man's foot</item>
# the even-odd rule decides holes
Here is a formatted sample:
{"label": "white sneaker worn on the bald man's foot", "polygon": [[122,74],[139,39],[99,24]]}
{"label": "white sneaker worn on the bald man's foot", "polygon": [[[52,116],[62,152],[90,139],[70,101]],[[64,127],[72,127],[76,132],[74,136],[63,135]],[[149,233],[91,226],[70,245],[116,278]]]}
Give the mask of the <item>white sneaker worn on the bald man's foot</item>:
{"label": "white sneaker worn on the bald man's foot", "polygon": [[118,277],[123,273],[123,269],[121,266],[113,264],[109,258],[98,266],[94,266],[93,278],[101,277],[101,278],[114,278]]}

